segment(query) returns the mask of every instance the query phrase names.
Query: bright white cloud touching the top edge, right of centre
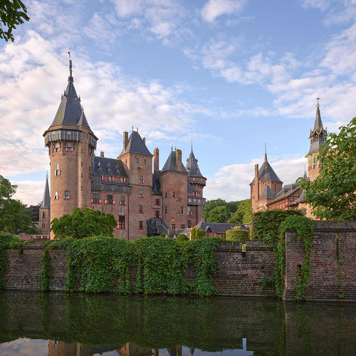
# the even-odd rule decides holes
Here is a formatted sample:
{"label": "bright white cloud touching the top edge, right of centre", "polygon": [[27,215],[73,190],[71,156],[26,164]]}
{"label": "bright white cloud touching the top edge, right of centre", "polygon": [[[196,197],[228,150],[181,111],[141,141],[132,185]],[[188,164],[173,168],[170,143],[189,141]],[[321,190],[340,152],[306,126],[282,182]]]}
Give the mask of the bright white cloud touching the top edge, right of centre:
{"label": "bright white cloud touching the top edge, right of centre", "polygon": [[246,1],[240,0],[209,0],[201,9],[201,17],[206,22],[214,22],[221,15],[239,13],[245,6]]}

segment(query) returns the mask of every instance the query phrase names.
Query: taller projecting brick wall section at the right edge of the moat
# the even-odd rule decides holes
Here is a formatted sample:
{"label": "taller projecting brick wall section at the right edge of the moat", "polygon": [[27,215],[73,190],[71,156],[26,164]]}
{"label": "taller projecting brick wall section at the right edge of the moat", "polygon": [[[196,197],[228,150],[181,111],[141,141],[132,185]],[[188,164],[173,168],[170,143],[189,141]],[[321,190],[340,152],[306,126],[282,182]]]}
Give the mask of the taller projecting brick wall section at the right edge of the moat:
{"label": "taller projecting brick wall section at the right edge of the moat", "polygon": [[[356,223],[354,221],[318,221],[315,223],[310,251],[311,275],[305,289],[309,300],[340,300],[339,263],[336,238],[342,265],[344,299],[356,300]],[[286,231],[286,280],[283,298],[293,300],[298,283],[297,266],[303,265],[305,248],[295,231]]]}

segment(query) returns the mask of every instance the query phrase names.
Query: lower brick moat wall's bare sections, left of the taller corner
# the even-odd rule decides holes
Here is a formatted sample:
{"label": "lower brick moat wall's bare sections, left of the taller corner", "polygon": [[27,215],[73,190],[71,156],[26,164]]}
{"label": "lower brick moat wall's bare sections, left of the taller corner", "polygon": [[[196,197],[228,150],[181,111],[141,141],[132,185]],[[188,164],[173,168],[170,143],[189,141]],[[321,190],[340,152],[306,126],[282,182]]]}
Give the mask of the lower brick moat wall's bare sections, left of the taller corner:
{"label": "lower brick moat wall's bare sections, left of the taller corner", "polygon": [[[43,248],[43,241],[38,240],[25,245],[21,255],[13,250],[4,251],[10,267],[5,275],[4,289],[38,290]],[[63,290],[66,281],[66,251],[53,249],[49,255],[52,270],[50,290]],[[265,250],[261,241],[247,241],[246,252],[242,252],[241,243],[231,246],[230,242],[223,242],[219,244],[215,258],[220,265],[220,276],[213,276],[218,295],[273,295],[271,289],[260,292],[262,278],[271,276],[274,266],[272,253]],[[135,276],[136,266],[131,271],[132,284]],[[194,279],[194,268],[191,266],[187,270],[187,278]]]}

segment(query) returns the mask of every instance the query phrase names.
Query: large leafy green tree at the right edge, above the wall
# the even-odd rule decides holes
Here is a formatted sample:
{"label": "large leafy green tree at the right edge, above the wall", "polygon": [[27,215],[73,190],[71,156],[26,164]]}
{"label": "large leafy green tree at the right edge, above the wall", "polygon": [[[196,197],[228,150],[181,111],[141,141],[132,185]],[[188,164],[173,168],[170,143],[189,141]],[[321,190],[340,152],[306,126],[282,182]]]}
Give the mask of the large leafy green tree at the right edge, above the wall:
{"label": "large leafy green tree at the right edge, above the wall", "polygon": [[320,175],[313,182],[297,180],[314,216],[321,220],[356,219],[356,118],[339,129],[339,134],[328,134],[320,153]]}

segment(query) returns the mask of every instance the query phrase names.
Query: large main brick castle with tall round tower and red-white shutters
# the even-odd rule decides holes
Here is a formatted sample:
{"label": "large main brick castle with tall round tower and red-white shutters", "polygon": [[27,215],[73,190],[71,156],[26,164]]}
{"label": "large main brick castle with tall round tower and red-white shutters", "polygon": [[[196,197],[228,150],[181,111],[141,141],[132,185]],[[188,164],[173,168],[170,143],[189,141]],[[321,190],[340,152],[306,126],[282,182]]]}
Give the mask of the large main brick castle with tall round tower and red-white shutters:
{"label": "large main brick castle with tall round tower and red-white shutters", "polygon": [[[68,85],[56,116],[43,133],[50,159],[51,189],[46,178],[40,208],[40,234],[49,235],[50,221],[69,214],[74,207],[113,214],[115,237],[135,240],[167,235],[168,229],[195,226],[203,217],[203,188],[193,146],[187,163],[177,148],[159,170],[159,150],[152,153],[137,130],[123,134],[117,158],[104,152],[95,156],[98,137],[90,129],[73,84],[69,61]],[[153,162],[152,162],[153,160]],[[153,163],[153,173],[152,173]],[[51,232],[51,239],[53,239]]]}

